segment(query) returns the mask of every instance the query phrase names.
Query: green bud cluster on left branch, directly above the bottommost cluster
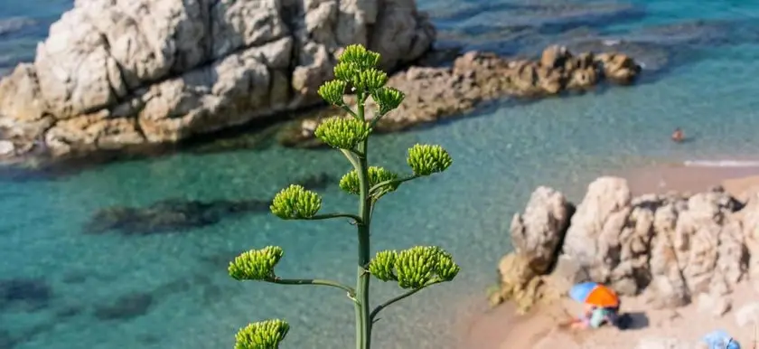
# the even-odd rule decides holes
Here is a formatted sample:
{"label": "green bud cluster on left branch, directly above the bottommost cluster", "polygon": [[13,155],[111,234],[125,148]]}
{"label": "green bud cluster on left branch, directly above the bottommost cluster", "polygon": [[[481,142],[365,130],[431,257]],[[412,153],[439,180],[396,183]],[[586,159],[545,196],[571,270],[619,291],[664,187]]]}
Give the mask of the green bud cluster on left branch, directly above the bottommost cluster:
{"label": "green bud cluster on left branch, directly above the bottommost cluster", "polygon": [[274,267],[285,251],[278,246],[242,252],[230,262],[230,277],[237,280],[268,280],[275,278]]}

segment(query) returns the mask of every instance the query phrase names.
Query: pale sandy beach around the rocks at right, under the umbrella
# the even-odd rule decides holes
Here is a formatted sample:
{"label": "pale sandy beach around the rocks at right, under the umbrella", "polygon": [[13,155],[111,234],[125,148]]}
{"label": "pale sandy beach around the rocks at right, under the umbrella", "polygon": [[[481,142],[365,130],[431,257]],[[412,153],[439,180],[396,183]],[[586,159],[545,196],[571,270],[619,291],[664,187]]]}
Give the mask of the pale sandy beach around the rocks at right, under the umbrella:
{"label": "pale sandy beach around the rocks at right, under the umbrella", "polygon": [[[614,175],[626,178],[635,194],[696,193],[722,185],[728,193],[744,201],[746,193],[759,189],[759,167],[661,165]],[[560,323],[581,312],[581,305],[568,299],[535,308],[526,316],[515,315],[514,307],[505,304],[471,321],[462,348],[698,348],[700,339],[717,329],[732,335],[743,348],[755,348],[756,329],[751,325],[739,326],[736,309],[759,298],[759,292],[743,281],[731,297],[732,310],[721,317],[699,311],[698,301],[677,309],[651,310],[642,297],[623,297],[621,312],[633,318],[633,325],[626,330],[562,328]],[[683,343],[657,346],[642,344],[643,338],[677,338]]]}

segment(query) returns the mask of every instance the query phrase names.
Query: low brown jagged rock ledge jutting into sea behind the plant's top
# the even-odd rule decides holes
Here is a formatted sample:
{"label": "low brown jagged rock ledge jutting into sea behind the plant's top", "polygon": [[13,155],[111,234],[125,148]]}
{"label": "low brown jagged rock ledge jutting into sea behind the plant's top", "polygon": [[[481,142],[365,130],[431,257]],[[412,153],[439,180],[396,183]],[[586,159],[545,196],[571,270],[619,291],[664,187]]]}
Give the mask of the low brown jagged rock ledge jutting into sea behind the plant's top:
{"label": "low brown jagged rock ledge jutting into sea behind the plant's top", "polygon": [[[412,67],[389,79],[388,85],[407,98],[383,117],[376,132],[392,132],[434,122],[472,110],[483,100],[501,97],[540,98],[566,91],[587,90],[603,80],[630,84],[641,72],[633,58],[622,53],[584,52],[574,55],[553,45],[538,60],[511,60],[488,52],[467,52],[451,67]],[[352,103],[355,103],[353,100]],[[368,109],[373,110],[371,103]],[[344,116],[334,110],[330,115]],[[372,118],[369,114],[367,118]],[[319,118],[297,120],[281,133],[285,146],[312,147]]]}

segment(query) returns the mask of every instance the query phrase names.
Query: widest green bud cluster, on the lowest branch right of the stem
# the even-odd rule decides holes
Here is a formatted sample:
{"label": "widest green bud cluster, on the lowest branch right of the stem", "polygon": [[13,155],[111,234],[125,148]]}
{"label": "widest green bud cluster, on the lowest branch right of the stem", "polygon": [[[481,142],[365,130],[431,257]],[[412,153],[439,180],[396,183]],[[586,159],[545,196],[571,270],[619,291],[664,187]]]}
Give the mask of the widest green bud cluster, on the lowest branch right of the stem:
{"label": "widest green bud cluster, on the lowest branch right of the stem", "polygon": [[436,246],[377,252],[369,271],[382,281],[398,281],[400,288],[423,288],[432,282],[451,281],[460,268],[450,253]]}

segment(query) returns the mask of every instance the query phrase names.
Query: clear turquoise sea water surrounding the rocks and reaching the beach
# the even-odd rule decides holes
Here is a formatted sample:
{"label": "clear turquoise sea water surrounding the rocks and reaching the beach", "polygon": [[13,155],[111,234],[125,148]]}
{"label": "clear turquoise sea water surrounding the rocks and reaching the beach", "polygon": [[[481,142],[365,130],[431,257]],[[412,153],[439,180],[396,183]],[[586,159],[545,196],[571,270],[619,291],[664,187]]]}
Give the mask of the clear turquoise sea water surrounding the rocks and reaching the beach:
{"label": "clear turquoise sea water surrounding the rocks and reaching the beach", "polygon": [[[610,169],[759,151],[759,2],[419,4],[440,27],[441,44],[535,53],[573,33],[594,33],[665,45],[668,60],[657,65],[660,56],[642,52],[648,67],[664,68],[645,71],[647,79],[631,88],[528,105],[495,103],[470,118],[373,138],[371,161],[391,169],[405,169],[405,151],[417,142],[439,143],[454,156],[447,173],[383,199],[373,248],[438,244],[463,268],[454,283],[387,310],[375,332],[378,348],[454,347],[457,316],[470,314],[470,300],[484,297],[498,259],[510,249],[511,216],[535,186],[552,185],[578,199],[589,180]],[[0,0],[0,70],[31,60],[35,42],[69,6],[63,0]],[[683,127],[693,141],[671,144],[674,127]],[[277,244],[286,250],[280,275],[350,283],[355,239],[348,224],[282,222],[254,213],[151,235],[83,231],[103,207],[148,206],[167,198],[266,199],[307,174],[348,170],[334,152],[272,146],[4,180],[0,348],[224,348],[231,347],[239,326],[275,316],[292,325],[286,348],[350,347],[352,307],[341,292],[239,283],[225,272],[237,252]],[[336,186],[325,190],[324,200],[327,211],[353,208],[352,198]],[[35,288],[4,294],[13,279],[33,281]],[[372,287],[375,299],[397,292],[376,281]],[[108,312],[120,297],[126,301]],[[108,318],[111,313],[121,318]]]}

